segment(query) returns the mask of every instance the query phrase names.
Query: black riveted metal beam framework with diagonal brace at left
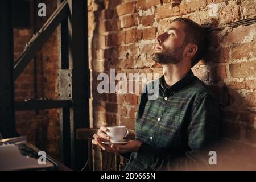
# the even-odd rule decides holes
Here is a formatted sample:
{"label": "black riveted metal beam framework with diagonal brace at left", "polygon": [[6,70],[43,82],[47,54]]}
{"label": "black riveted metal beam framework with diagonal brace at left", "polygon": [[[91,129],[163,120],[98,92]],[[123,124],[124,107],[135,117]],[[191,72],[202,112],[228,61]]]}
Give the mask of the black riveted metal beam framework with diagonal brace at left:
{"label": "black riveted metal beam framework with diagonal brace at left", "polygon": [[[61,159],[72,169],[81,169],[88,160],[87,143],[76,139],[76,130],[89,127],[90,72],[88,64],[87,2],[58,1],[58,7],[42,28],[31,38],[14,65],[13,1],[0,1],[0,52],[2,53],[1,100],[5,105],[0,119],[0,132],[5,138],[15,137],[15,110],[60,108]],[[14,101],[14,81],[24,71],[52,32],[59,27],[59,57],[61,69],[58,81],[60,100]],[[69,90],[69,92],[67,92]],[[4,110],[3,110],[4,109]]]}

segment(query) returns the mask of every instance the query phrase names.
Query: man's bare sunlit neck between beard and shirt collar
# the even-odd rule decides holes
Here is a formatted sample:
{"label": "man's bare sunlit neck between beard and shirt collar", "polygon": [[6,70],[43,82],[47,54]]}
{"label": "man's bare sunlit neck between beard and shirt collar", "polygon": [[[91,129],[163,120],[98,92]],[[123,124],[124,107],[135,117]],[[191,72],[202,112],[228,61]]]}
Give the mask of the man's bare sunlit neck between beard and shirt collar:
{"label": "man's bare sunlit neck between beard and shirt collar", "polygon": [[177,81],[181,80],[189,71],[189,67],[181,67],[178,64],[164,64],[163,75],[164,80],[168,86],[174,85]]}

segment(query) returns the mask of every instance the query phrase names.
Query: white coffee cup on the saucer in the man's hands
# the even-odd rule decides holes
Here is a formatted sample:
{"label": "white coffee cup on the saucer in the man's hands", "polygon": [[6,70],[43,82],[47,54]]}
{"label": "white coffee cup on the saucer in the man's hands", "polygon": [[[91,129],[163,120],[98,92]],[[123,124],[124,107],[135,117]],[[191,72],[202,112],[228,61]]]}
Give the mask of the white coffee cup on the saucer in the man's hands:
{"label": "white coffee cup on the saucer in the man's hands", "polygon": [[121,142],[129,130],[125,126],[109,126],[106,134],[110,137],[110,142]]}

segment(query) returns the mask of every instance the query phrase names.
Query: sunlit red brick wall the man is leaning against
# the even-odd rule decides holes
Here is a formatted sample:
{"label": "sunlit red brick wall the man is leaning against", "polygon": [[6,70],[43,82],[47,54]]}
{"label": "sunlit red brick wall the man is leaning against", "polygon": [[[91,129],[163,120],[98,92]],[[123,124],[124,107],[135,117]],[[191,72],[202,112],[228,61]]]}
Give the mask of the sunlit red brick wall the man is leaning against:
{"label": "sunlit red brick wall the man is leaning against", "polygon": [[[88,1],[89,57],[92,70],[91,123],[134,129],[139,94],[98,94],[97,76],[110,69],[122,73],[159,73],[151,59],[155,36],[177,17],[202,26],[221,26],[256,15],[256,3],[225,0]],[[208,34],[207,56],[193,73],[214,90],[222,104],[222,136],[256,147],[256,24]],[[95,169],[100,169],[94,148]]]}

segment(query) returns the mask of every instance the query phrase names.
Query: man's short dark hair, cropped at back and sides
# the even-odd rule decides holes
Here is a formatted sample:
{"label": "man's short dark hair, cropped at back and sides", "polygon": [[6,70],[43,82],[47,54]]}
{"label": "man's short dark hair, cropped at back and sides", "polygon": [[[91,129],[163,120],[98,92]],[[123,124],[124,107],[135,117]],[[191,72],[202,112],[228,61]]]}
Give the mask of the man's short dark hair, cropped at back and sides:
{"label": "man's short dark hair, cropped at back and sides", "polygon": [[196,55],[192,57],[191,68],[196,65],[204,56],[207,51],[207,36],[203,27],[196,22],[187,18],[176,18],[172,22],[182,22],[185,24],[185,42],[196,44],[198,50]]}

